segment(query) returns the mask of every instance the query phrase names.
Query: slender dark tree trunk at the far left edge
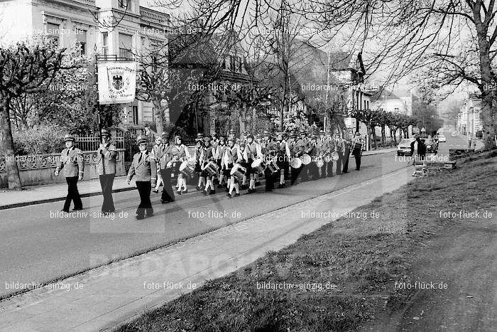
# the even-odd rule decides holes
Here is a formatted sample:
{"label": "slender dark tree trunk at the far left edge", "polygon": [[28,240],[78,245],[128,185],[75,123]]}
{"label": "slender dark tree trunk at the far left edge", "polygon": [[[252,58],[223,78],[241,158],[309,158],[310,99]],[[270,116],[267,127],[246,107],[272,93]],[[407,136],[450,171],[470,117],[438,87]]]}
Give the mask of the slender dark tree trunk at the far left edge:
{"label": "slender dark tree trunk at the far left edge", "polygon": [[14,156],[13,151],[11,119],[9,117],[9,102],[10,100],[0,92],[1,147],[5,151],[5,166],[9,189],[12,191],[21,191],[21,176],[19,176],[16,156]]}

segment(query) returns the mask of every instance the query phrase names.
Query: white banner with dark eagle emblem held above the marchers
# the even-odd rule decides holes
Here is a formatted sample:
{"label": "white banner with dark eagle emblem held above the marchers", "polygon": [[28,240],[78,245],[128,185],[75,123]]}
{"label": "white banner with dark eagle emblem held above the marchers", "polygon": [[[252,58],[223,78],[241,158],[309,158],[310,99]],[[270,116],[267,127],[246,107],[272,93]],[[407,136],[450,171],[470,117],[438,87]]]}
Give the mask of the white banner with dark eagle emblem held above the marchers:
{"label": "white banner with dark eagle emblem held above the marchers", "polygon": [[135,100],[136,63],[98,64],[99,104],[126,104]]}

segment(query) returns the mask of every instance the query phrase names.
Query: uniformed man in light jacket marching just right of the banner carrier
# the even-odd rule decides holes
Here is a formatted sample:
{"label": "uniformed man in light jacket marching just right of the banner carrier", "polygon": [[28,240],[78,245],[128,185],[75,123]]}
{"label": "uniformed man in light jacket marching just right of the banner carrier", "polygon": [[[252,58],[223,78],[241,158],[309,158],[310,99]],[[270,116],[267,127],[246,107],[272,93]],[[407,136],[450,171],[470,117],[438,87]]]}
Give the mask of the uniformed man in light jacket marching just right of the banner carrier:
{"label": "uniformed man in light jacket marching just right of the banner carrier", "polygon": [[150,193],[152,187],[155,186],[155,174],[157,171],[155,169],[155,159],[147,151],[147,139],[138,136],[137,143],[140,152],[133,156],[127,180],[128,184],[130,184],[131,178],[136,175],[136,188],[140,195],[140,205],[136,209],[136,219],[141,220],[153,215]]}

